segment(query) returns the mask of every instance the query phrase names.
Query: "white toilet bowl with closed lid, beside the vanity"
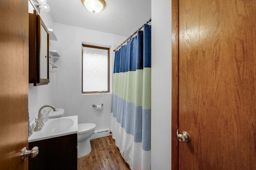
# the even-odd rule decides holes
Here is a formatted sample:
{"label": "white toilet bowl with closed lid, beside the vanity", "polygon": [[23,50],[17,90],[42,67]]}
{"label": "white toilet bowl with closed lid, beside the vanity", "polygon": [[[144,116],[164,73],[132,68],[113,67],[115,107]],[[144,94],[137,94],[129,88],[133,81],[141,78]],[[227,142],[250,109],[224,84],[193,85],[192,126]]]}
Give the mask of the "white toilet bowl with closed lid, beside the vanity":
{"label": "white toilet bowl with closed lid, beside the vanity", "polygon": [[88,155],[91,151],[90,137],[95,131],[94,123],[78,123],[77,129],[77,157],[81,158]]}

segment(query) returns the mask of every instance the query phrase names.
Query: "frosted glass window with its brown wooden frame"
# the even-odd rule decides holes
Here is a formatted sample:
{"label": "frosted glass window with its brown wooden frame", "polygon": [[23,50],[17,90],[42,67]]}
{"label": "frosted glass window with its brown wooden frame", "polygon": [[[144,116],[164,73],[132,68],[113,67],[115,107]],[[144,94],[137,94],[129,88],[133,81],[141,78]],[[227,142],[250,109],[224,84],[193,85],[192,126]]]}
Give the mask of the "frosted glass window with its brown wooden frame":
{"label": "frosted glass window with its brown wooden frame", "polygon": [[83,45],[82,93],[109,92],[109,48]]}

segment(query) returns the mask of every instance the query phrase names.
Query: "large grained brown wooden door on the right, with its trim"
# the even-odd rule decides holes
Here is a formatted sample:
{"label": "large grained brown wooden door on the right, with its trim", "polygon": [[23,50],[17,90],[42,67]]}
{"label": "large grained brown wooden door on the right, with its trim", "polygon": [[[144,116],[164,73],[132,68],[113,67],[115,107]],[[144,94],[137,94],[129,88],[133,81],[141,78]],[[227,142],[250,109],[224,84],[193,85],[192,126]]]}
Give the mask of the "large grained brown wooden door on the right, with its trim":
{"label": "large grained brown wooden door on the right, with its trim", "polygon": [[176,6],[178,123],[172,123],[191,137],[176,142],[178,169],[256,169],[256,2],[179,0]]}

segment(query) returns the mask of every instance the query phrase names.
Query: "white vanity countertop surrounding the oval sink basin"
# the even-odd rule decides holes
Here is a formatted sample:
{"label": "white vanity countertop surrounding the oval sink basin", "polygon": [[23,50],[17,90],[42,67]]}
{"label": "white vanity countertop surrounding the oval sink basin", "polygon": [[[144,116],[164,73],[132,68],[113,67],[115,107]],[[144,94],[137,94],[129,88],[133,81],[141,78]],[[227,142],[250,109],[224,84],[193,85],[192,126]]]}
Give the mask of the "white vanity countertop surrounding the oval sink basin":
{"label": "white vanity countertop surrounding the oval sink basin", "polygon": [[[50,123],[51,121],[54,121],[56,119],[65,119],[65,118],[69,118],[69,119],[72,119],[74,121],[74,124],[72,125],[72,127],[70,127],[67,130],[62,131],[61,133],[54,133],[54,134],[53,133],[49,133],[49,134],[42,133],[42,130],[44,129],[44,126],[47,126],[47,124]],[[44,140],[44,139],[50,139],[50,138],[54,138],[54,137],[60,137],[60,136],[65,136],[65,135],[70,135],[70,134],[77,133],[77,124],[78,124],[78,116],[77,115],[49,119],[47,122],[44,123],[44,125],[42,126],[42,129],[40,131],[34,131],[34,129],[33,129],[33,133],[28,138],[28,142],[40,141],[40,140]],[[65,125],[63,124],[61,126],[65,126]]]}

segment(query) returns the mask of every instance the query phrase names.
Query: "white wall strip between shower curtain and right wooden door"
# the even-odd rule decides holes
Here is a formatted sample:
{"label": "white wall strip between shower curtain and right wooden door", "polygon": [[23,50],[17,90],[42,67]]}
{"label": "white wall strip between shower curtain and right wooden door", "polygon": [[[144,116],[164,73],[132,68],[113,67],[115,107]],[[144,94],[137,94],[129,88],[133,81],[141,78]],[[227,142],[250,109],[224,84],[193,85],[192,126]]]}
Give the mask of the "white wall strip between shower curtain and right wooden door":
{"label": "white wall strip between shower curtain and right wooden door", "polygon": [[152,6],[151,169],[171,169],[171,0]]}

